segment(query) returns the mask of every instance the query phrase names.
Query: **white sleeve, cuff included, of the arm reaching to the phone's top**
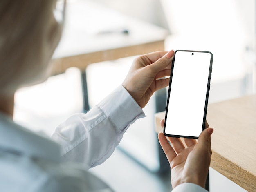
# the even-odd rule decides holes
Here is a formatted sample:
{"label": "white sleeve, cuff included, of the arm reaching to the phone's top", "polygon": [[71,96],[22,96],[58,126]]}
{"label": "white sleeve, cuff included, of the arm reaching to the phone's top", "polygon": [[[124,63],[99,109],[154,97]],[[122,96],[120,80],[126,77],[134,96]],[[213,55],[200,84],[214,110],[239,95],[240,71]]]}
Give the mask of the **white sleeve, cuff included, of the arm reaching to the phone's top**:
{"label": "white sleeve, cuff included, of the arm reaching to the phone's top", "polygon": [[80,162],[89,169],[108,159],[127,128],[144,116],[120,85],[86,114],[74,114],[56,127],[52,139],[61,145],[62,161]]}

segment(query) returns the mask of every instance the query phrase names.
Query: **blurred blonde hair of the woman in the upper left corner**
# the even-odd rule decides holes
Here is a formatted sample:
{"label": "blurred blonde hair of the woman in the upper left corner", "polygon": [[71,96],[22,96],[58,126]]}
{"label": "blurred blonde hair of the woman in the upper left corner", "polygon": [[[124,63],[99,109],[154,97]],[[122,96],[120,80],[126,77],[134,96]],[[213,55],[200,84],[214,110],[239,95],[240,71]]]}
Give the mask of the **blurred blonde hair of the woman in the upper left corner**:
{"label": "blurred blonde hair of the woman in the upper left corner", "polygon": [[33,84],[46,68],[61,34],[53,0],[0,0],[0,94]]}

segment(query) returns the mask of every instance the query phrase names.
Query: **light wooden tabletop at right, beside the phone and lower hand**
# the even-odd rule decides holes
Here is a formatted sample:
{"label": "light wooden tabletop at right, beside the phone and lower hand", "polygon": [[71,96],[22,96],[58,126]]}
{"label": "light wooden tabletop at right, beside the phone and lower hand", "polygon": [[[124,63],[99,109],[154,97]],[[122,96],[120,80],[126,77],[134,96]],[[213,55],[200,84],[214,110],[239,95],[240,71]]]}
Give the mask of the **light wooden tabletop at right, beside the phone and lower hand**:
{"label": "light wooden tabletop at right, beside the phone and lower hand", "polygon": [[[165,112],[157,113],[159,121]],[[208,105],[213,127],[211,167],[247,191],[256,191],[256,95]]]}

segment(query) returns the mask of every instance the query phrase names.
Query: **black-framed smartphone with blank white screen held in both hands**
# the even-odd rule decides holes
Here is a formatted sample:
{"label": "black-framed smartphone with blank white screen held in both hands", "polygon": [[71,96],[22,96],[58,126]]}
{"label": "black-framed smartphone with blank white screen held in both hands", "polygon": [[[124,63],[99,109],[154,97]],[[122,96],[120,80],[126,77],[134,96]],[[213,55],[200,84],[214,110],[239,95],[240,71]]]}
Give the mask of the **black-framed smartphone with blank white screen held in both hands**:
{"label": "black-framed smartphone with blank white screen held in both hands", "polygon": [[177,50],[172,61],[164,135],[198,139],[205,129],[213,54]]}

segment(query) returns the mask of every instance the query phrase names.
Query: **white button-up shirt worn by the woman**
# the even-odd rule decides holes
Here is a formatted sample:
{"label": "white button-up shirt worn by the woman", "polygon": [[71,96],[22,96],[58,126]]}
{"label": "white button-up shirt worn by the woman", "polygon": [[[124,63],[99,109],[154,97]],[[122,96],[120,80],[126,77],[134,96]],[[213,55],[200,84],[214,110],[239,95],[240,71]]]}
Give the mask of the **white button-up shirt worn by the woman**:
{"label": "white button-up shirt worn by the woman", "polygon": [[59,125],[52,139],[0,114],[0,192],[88,192],[108,188],[87,170],[103,163],[126,129],[144,116],[121,85],[88,113],[74,114]]}

